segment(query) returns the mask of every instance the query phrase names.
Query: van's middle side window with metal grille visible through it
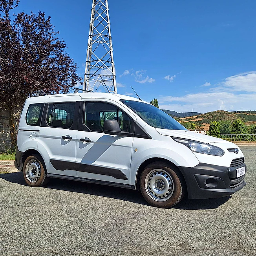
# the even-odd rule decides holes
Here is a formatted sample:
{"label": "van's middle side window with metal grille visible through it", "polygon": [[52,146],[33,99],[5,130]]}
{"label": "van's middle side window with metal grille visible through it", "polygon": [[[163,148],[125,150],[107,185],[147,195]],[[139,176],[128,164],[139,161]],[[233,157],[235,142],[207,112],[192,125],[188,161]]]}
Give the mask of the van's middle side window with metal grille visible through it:
{"label": "van's middle side window with metal grille visible through it", "polygon": [[74,119],[75,103],[49,104],[46,122],[51,127],[70,128]]}

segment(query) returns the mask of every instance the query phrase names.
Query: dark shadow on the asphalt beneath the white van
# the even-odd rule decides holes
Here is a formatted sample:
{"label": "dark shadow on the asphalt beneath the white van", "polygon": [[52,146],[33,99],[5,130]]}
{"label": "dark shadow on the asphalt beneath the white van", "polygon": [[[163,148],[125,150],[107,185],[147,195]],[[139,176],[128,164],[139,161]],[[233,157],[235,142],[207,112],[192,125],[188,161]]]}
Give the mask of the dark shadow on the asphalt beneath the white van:
{"label": "dark shadow on the asphalt beneath the white van", "polygon": [[[22,186],[27,186],[22,172],[11,172],[0,174],[0,178],[16,183]],[[149,204],[143,198],[141,192],[127,188],[111,187],[93,183],[84,183],[81,181],[69,181],[66,179],[51,178],[46,188],[64,190],[75,193],[90,194],[95,196],[109,197],[130,201],[141,205]],[[178,205],[173,208],[180,210],[200,210],[200,209],[215,209],[226,203],[231,196],[213,198],[213,199],[188,199],[184,198]]]}

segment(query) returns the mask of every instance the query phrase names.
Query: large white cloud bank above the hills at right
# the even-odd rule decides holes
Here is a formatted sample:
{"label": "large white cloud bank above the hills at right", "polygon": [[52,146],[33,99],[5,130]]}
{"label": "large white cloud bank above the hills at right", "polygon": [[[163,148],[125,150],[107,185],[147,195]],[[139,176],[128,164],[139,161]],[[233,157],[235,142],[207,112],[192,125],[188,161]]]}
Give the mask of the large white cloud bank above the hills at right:
{"label": "large white cloud bank above the hills at right", "polygon": [[[169,77],[170,79],[170,77]],[[255,110],[256,71],[227,77],[216,87],[206,88],[203,92],[183,96],[157,97],[159,107],[177,112],[209,112],[219,110]]]}

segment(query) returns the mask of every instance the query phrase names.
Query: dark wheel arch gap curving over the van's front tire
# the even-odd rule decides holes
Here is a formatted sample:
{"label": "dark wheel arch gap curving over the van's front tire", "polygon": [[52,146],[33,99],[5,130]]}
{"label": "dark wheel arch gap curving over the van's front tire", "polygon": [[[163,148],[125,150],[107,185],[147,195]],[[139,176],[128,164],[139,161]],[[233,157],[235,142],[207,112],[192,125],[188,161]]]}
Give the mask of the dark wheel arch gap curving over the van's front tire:
{"label": "dark wheel arch gap curving over the van's front tire", "polygon": [[165,162],[167,165],[171,166],[172,168],[175,168],[177,170],[177,172],[179,172],[179,174],[181,175],[181,178],[183,179],[183,183],[185,184],[186,187],[186,192],[187,192],[187,183],[185,180],[185,177],[183,175],[183,173],[181,172],[181,170],[179,169],[178,166],[176,166],[174,163],[172,163],[170,160],[167,160],[165,158],[161,158],[161,157],[152,157],[149,159],[146,159],[143,163],[141,163],[141,165],[139,166],[137,172],[136,172],[136,178],[135,178],[135,190],[140,190],[139,188],[139,179],[141,177],[141,173],[144,170],[144,168],[154,162]]}

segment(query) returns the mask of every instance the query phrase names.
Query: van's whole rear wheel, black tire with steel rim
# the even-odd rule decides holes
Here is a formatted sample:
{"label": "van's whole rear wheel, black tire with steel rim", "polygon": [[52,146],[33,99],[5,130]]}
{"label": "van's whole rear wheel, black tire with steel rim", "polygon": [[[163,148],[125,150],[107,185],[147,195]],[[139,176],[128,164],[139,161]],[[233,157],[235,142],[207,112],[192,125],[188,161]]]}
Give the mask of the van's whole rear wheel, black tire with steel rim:
{"label": "van's whole rear wheel, black tire with steel rim", "polygon": [[[29,168],[33,169],[34,175],[32,171],[29,171]],[[23,165],[23,176],[27,185],[30,187],[42,187],[48,183],[49,179],[46,177],[46,167],[40,155],[34,154],[27,157]]]}

